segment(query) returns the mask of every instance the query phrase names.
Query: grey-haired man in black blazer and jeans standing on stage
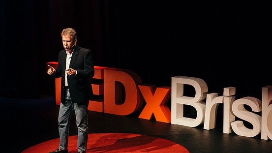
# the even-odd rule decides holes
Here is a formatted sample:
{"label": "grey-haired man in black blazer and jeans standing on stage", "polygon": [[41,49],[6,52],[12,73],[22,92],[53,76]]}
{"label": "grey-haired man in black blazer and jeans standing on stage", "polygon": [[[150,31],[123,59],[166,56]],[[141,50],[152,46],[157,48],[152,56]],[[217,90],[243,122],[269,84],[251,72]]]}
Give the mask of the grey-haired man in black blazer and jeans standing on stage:
{"label": "grey-haired man in black blazer and jeans standing on stage", "polygon": [[59,111],[60,145],[50,153],[68,153],[69,123],[73,112],[78,127],[78,153],[86,153],[88,142],[88,105],[93,93],[91,78],[94,64],[91,51],[77,45],[77,34],[72,28],[61,32],[64,50],[59,53],[58,67],[49,66],[47,73],[52,78],[61,77]]}

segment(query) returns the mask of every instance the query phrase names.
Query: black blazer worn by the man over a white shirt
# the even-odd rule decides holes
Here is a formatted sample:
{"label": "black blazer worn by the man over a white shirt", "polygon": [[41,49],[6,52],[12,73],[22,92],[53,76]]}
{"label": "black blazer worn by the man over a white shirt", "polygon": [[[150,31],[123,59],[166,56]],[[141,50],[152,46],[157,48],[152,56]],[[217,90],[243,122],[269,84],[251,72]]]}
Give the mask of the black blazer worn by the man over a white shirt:
{"label": "black blazer worn by the man over a white shirt", "polygon": [[[61,77],[61,96],[60,102],[64,103],[65,96],[65,70],[66,70],[66,51],[59,53],[59,65],[56,69],[54,78]],[[94,75],[94,65],[91,51],[75,46],[69,68],[77,70],[77,75],[67,76],[68,88],[72,102],[89,101],[93,95],[91,88],[91,78]]]}

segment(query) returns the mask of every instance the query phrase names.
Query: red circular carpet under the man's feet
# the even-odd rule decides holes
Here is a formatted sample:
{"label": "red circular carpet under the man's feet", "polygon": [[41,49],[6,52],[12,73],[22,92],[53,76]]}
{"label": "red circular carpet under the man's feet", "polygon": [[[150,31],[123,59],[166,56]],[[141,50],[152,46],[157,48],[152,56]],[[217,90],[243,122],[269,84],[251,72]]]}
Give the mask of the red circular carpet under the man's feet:
{"label": "red circular carpet under the man's feet", "polygon": [[[60,139],[32,146],[22,153],[48,153],[58,148]],[[69,153],[77,153],[77,136],[69,136]],[[87,153],[189,153],[183,146],[162,138],[131,133],[89,134]]]}

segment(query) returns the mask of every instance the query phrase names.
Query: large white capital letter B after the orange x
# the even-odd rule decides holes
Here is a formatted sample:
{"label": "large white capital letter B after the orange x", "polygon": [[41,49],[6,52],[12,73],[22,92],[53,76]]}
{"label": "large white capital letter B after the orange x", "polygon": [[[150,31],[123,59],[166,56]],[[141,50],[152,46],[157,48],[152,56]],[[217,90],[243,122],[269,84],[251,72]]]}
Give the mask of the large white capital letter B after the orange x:
{"label": "large white capital letter B after the orange x", "polygon": [[[195,89],[195,96],[184,96],[183,85],[191,85]],[[196,127],[204,122],[205,102],[208,93],[207,84],[199,78],[176,76],[172,77],[171,95],[171,123]],[[183,116],[183,105],[190,105],[196,109],[196,119]]]}

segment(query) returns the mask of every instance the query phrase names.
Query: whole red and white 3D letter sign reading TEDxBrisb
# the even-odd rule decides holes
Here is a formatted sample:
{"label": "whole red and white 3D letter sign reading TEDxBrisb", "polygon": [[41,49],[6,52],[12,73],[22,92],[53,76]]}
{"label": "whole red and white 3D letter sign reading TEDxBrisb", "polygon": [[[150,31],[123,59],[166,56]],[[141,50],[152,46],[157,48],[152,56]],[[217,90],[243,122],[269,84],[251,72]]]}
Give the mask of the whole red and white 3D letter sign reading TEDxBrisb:
{"label": "whole red and white 3D letter sign reading TEDxBrisb", "polygon": [[[55,64],[57,62],[48,62]],[[218,105],[223,105],[223,133],[254,137],[261,133],[261,139],[272,140],[272,86],[262,88],[262,100],[255,97],[235,98],[235,87],[224,88],[223,95],[208,93],[208,86],[200,78],[175,76],[171,87],[142,83],[133,71],[119,68],[94,66],[92,78],[93,94],[98,98],[90,100],[88,110],[115,115],[129,115],[142,111],[139,118],[167,122],[188,127],[204,124],[204,129],[215,128]],[[60,78],[56,79],[56,104],[60,105]],[[184,95],[184,85],[195,90],[193,97]],[[171,110],[167,106],[171,98]],[[204,101],[206,100],[206,101]],[[145,105],[143,105],[145,102]],[[185,117],[183,106],[194,107],[196,118]],[[245,109],[244,105],[252,111]],[[142,108],[144,107],[144,108]],[[261,112],[261,116],[257,113]],[[235,117],[241,119],[236,121]],[[243,121],[252,124],[248,128]]]}

